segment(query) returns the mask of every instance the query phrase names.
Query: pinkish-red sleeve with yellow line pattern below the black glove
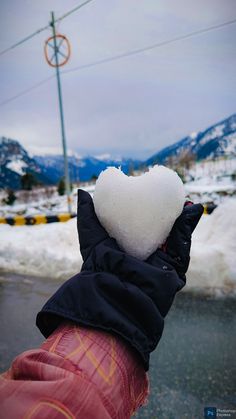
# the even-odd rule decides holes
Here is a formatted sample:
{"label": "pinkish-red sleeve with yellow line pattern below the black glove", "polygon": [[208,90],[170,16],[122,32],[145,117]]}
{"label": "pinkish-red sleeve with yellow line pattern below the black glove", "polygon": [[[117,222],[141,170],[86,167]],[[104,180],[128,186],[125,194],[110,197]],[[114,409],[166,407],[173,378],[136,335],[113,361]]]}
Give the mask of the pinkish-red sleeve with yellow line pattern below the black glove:
{"label": "pinkish-red sleeve with yellow line pattern below the black glove", "polygon": [[123,340],[66,323],[0,376],[0,411],[11,419],[126,419],[147,393],[143,366]]}

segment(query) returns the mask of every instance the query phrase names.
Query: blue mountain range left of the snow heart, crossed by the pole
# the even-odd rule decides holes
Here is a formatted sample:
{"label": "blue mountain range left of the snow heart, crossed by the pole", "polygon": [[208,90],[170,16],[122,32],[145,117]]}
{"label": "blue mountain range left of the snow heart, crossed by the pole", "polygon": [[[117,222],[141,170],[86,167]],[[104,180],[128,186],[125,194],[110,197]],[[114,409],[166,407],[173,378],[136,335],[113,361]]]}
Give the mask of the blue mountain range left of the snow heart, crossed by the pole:
{"label": "blue mountain range left of the snow heart, crossed by the pole", "polygon": [[[30,157],[22,145],[9,138],[0,138],[0,188],[21,188],[21,177],[31,173],[41,184],[56,184],[64,175],[62,155]],[[68,156],[69,174],[72,182],[87,181],[98,176],[108,166],[121,167],[124,173],[135,169],[140,162],[132,159],[114,160],[109,155],[80,157],[76,153]]]}

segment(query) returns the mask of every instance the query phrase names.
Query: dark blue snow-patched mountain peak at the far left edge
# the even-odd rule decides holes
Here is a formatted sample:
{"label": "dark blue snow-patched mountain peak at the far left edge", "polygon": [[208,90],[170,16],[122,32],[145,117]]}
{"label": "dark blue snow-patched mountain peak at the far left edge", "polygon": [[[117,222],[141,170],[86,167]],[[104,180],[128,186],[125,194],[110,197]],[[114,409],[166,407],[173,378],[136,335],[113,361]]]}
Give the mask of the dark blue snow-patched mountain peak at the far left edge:
{"label": "dark blue snow-patched mountain peak at the far left edge", "polygon": [[50,184],[41,167],[16,140],[0,138],[0,188],[21,188],[21,177],[31,173],[39,183]]}

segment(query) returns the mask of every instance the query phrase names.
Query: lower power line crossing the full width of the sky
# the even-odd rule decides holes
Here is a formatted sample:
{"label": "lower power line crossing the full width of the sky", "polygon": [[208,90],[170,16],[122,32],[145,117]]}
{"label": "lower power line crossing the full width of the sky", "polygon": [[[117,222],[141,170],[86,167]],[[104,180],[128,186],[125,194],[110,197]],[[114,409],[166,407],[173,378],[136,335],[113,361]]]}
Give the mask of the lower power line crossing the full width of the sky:
{"label": "lower power line crossing the full width of the sky", "polygon": [[[92,1],[92,0],[88,0],[88,1]],[[236,19],[228,21],[228,22],[221,23],[219,25],[210,26],[210,27],[205,28],[205,29],[199,29],[198,31],[194,31],[194,32],[191,32],[191,33],[186,34],[186,35],[178,36],[178,37],[175,37],[175,38],[163,41],[163,42],[148,45],[148,46],[143,47],[143,48],[137,48],[137,49],[134,49],[134,50],[129,50],[129,51],[126,51],[126,52],[121,53],[121,54],[117,54],[117,55],[113,55],[111,57],[103,58],[101,60],[93,61],[93,62],[88,63],[88,64],[83,64],[83,65],[71,68],[70,70],[64,70],[64,71],[61,72],[61,74],[68,74],[68,73],[72,73],[74,71],[95,67],[95,66],[98,66],[98,65],[101,65],[101,64],[106,64],[106,63],[112,62],[112,61],[117,61],[117,60],[120,60],[122,58],[130,57],[132,55],[141,54],[145,51],[152,50],[152,49],[155,49],[155,48],[160,48],[160,47],[163,47],[163,46],[175,43],[175,42],[179,42],[179,41],[184,40],[184,39],[192,38],[192,37],[200,35],[202,33],[210,32],[210,31],[213,31],[215,29],[220,29],[220,28],[223,28],[224,26],[228,26],[228,25],[231,25],[233,23],[236,23]],[[12,100],[17,99],[20,96],[23,96],[23,95],[29,93],[31,90],[36,89],[37,87],[41,86],[42,84],[46,83],[47,81],[51,80],[54,77],[55,77],[54,75],[50,76],[50,77],[47,77],[46,79],[40,81],[39,83],[29,87],[28,89],[26,89],[24,91],[18,93],[17,95],[12,96],[9,99],[6,99],[5,101],[0,103],[0,107],[6,105],[7,103],[11,102]]]}

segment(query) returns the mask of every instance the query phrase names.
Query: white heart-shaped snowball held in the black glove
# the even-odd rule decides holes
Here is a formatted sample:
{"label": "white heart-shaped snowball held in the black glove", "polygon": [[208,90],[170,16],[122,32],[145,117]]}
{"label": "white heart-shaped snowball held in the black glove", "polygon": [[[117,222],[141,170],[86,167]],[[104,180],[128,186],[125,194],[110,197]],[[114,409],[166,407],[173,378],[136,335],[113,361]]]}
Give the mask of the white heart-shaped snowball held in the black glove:
{"label": "white heart-shaped snowball held in the black glove", "polygon": [[154,166],[140,176],[109,167],[94,191],[97,217],[130,255],[145,260],[168,237],[184,206],[184,186],[171,169]]}

